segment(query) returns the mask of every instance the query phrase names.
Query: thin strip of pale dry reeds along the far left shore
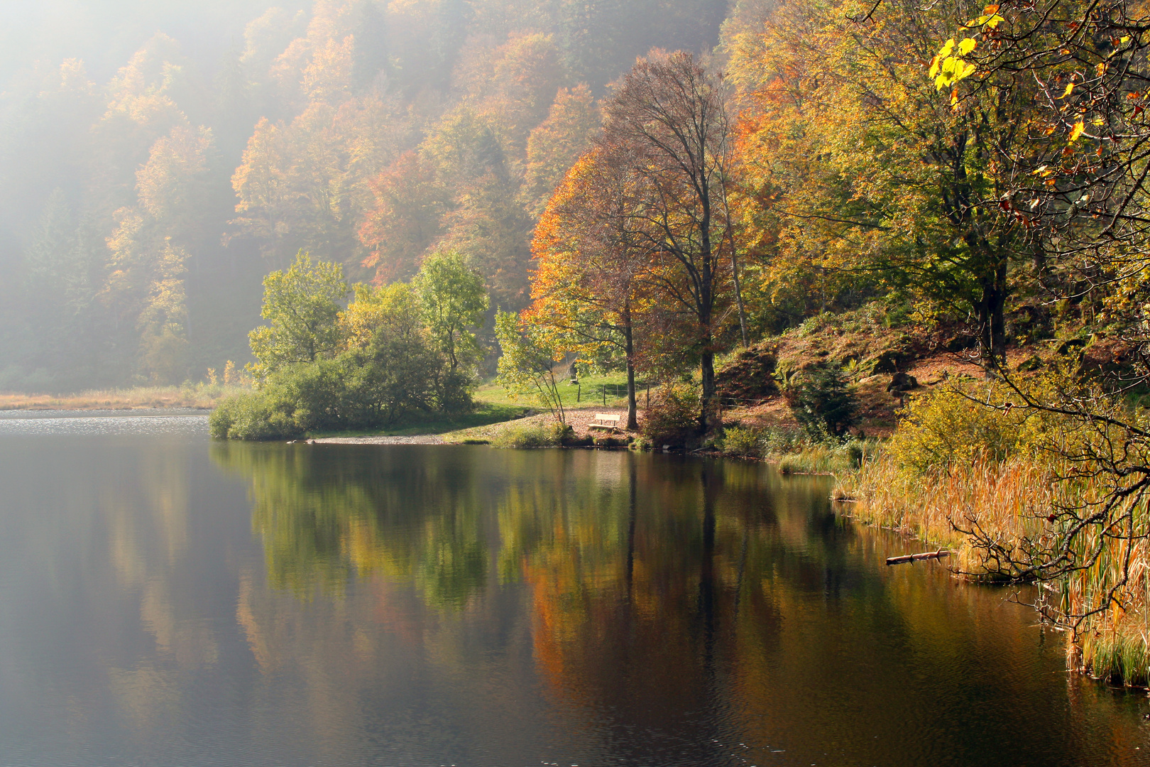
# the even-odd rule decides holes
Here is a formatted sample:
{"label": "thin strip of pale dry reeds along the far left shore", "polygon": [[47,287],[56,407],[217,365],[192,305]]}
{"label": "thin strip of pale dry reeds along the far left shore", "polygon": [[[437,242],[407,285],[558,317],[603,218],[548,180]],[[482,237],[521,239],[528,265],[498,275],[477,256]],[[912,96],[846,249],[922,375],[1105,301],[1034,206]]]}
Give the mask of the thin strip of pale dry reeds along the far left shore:
{"label": "thin strip of pale dry reeds along the far left shore", "polygon": [[132,386],[92,389],[74,394],[0,393],[0,411],[123,411],[150,407],[213,408],[231,394],[245,391],[227,384],[183,386]]}

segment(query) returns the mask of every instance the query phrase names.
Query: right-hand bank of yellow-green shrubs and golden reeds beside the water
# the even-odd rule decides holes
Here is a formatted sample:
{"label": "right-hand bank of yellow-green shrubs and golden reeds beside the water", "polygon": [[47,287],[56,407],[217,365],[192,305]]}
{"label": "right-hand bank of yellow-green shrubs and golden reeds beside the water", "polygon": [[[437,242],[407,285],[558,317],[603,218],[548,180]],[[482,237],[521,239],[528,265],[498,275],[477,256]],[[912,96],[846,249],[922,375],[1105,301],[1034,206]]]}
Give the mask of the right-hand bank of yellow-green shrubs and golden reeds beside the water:
{"label": "right-hand bank of yellow-green shrubs and golden reeds beside the water", "polygon": [[964,577],[1042,581],[1036,606],[1067,630],[1068,666],[1147,687],[1145,499],[1106,505],[1125,480],[1084,458],[1097,451],[1091,440],[1106,438],[1097,424],[980,393],[982,404],[952,392],[917,400],[885,447],[839,476],[836,497],[853,499],[845,511],[859,521],[956,551],[950,567]]}

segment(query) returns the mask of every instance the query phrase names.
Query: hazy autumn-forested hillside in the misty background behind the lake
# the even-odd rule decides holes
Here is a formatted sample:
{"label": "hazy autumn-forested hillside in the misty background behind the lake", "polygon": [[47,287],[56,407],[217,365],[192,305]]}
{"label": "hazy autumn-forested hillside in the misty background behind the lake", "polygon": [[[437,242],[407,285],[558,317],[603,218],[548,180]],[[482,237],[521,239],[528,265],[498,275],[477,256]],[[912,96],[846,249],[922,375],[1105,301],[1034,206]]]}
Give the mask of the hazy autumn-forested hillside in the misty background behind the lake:
{"label": "hazy autumn-forested hillside in the misty background behind the lake", "polygon": [[0,389],[181,382],[247,358],[300,250],[356,282],[457,248],[529,302],[530,237],[653,46],[723,0],[6,3]]}

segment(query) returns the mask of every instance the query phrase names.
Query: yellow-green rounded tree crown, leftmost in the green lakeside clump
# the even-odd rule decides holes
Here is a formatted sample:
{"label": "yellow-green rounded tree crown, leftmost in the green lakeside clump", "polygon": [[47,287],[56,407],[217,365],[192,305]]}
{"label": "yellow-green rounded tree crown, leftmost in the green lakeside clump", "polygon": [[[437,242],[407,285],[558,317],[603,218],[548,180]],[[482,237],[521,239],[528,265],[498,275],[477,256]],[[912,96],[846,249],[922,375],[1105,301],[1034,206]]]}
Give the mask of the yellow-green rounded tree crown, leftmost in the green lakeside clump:
{"label": "yellow-green rounded tree crown, leftmost in the green lakeside clump", "polygon": [[340,342],[336,320],[346,296],[343,268],[312,261],[302,251],[286,273],[264,277],[260,314],[269,323],[247,335],[256,359],[250,367],[252,375],[264,378],[298,362],[335,354]]}

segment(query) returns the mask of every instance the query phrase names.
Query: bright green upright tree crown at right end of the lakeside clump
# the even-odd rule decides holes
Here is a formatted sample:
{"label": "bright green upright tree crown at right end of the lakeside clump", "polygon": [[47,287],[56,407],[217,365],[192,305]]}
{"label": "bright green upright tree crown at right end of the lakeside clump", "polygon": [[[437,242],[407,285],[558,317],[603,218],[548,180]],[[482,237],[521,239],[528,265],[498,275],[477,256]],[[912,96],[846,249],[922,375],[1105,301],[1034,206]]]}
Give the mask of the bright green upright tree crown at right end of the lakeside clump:
{"label": "bright green upright tree crown at right end of the lakeside clump", "polygon": [[488,294],[483,276],[454,251],[434,253],[412,281],[428,331],[451,361],[454,371],[473,362],[480,344],[471,332],[483,323]]}

